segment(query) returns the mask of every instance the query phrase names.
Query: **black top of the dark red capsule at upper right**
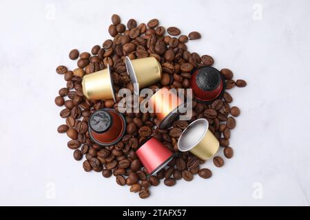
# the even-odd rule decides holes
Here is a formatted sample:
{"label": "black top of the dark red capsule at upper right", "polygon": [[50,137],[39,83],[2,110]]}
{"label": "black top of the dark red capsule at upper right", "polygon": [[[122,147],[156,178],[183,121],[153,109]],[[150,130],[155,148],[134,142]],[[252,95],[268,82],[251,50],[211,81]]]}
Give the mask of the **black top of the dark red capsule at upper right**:
{"label": "black top of the dark red capsule at upper right", "polygon": [[212,91],[220,85],[220,72],[214,67],[198,69],[196,84],[204,91]]}

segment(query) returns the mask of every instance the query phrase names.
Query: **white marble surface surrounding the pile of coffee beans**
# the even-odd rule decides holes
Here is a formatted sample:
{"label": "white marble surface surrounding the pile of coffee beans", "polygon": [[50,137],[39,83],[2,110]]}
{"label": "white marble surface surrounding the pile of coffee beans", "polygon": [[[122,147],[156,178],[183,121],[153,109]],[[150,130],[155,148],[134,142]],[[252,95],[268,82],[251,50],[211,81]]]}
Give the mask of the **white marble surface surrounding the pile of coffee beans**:
{"label": "white marble surface surrounding the pile of coffee beans", "polygon": [[[0,1],[1,205],[309,206],[310,2],[156,2]],[[113,178],[85,173],[56,133],[63,120],[54,97],[65,83],[54,69],[75,67],[72,48],[103,43],[113,13],[198,30],[203,39],[189,50],[247,80],[231,91],[242,111],[235,156],[223,168],[207,162],[211,179],[162,184],[142,201]]]}

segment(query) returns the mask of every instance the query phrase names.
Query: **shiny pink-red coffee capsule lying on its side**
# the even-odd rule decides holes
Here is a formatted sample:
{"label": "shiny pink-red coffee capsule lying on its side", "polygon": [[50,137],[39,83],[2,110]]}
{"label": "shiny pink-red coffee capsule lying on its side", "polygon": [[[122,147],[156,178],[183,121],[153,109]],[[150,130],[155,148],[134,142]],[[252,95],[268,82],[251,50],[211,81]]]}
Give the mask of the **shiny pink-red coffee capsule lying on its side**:
{"label": "shiny pink-red coffee capsule lying on its side", "polygon": [[142,144],[138,150],[136,150],[136,155],[149,175],[155,175],[174,157],[174,153],[155,137],[151,137],[147,142]]}

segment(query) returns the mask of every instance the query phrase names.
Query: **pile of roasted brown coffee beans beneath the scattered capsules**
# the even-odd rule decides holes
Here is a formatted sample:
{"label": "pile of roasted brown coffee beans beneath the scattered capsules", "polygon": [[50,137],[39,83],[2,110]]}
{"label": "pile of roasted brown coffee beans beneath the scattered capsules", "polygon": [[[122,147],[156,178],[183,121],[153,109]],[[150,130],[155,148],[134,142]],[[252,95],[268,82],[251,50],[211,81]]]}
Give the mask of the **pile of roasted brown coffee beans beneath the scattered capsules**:
{"label": "pile of roasted brown coffee beans beneath the scattered capsules", "polygon": [[[215,100],[211,104],[194,101],[192,120],[176,120],[171,128],[158,129],[158,119],[154,113],[126,113],[127,130],[123,140],[110,147],[99,146],[90,140],[87,121],[94,111],[101,108],[117,110],[121,98],[117,98],[117,102],[87,100],[81,85],[85,74],[92,74],[110,65],[116,93],[124,87],[133,92],[134,87],[125,67],[125,56],[130,59],[153,56],[161,63],[163,76],[161,82],[150,86],[150,89],[164,86],[187,89],[192,69],[214,64],[211,56],[200,56],[187,50],[186,43],[189,40],[201,38],[198,32],[191,32],[188,36],[181,35],[179,28],[169,27],[166,34],[166,28],[159,24],[158,19],[152,19],[146,24],[138,24],[134,19],[130,19],[127,24],[123,24],[121,18],[114,14],[108,32],[112,39],[107,39],[102,45],[94,45],[91,52],[80,53],[74,49],[69,53],[70,59],[77,59],[76,69],[71,71],[63,65],[56,68],[57,74],[63,75],[67,82],[65,87],[59,89],[59,96],[54,100],[59,107],[64,106],[60,116],[65,120],[65,124],[61,124],[57,131],[66,133],[70,138],[68,148],[74,151],[74,159],[85,159],[83,169],[86,172],[100,172],[106,178],[113,175],[118,185],[130,186],[130,192],[137,192],[142,199],[149,197],[151,186],[158,186],[161,182],[166,186],[174,186],[180,179],[192,181],[196,174],[203,179],[210,178],[211,170],[200,167],[205,161],[192,153],[178,152],[178,137],[189,123],[198,118],[206,118],[210,124],[209,129],[218,138],[225,157],[231,158],[234,151],[229,144],[229,137],[236,126],[235,118],[240,115],[240,109],[230,107],[233,98],[227,90],[245,87],[245,80],[233,80],[234,74],[231,70],[222,69],[220,72],[225,77],[227,89],[223,99]],[[147,175],[135,154],[138,145],[150,136],[156,137],[178,153],[166,168],[153,176]],[[213,163],[220,167],[225,162],[222,157],[216,156]]]}

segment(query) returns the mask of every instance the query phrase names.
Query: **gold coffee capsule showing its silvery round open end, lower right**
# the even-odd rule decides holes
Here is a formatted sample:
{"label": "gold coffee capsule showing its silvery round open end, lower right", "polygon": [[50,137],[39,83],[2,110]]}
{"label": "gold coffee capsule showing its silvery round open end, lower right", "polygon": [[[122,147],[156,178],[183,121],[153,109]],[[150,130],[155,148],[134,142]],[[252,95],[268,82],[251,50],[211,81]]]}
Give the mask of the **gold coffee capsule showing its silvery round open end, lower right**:
{"label": "gold coffee capsule showing its silvery round open end, lower right", "polygon": [[200,159],[213,157],[219,146],[220,143],[209,130],[209,122],[205,118],[189,124],[178,139],[179,151],[190,151]]}

